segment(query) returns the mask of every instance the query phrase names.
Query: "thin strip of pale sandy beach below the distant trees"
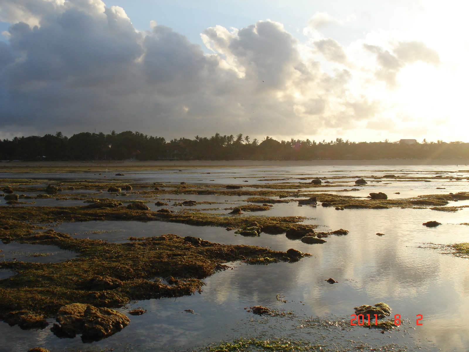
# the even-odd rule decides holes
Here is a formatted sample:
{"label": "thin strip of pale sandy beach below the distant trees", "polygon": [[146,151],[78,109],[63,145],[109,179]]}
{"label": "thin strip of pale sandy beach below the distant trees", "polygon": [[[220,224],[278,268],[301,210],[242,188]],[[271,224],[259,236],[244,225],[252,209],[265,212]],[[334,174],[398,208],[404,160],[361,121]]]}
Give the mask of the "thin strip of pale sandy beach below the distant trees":
{"label": "thin strip of pale sandy beach below the distant trees", "polygon": [[1,161],[0,170],[12,167],[279,167],[279,166],[410,166],[454,165],[467,166],[468,159],[453,160],[190,160],[190,161]]}

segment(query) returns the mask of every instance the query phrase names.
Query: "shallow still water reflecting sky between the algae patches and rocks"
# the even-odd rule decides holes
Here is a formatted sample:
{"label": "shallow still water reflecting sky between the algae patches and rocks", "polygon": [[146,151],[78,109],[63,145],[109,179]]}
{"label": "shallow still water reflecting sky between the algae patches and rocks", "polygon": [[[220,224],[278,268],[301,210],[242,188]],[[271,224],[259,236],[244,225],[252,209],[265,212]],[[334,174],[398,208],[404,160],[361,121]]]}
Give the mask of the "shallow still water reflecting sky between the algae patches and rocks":
{"label": "shallow still water reflecting sky between the algae patches and rocks", "polygon": [[[326,167],[321,167],[326,168]],[[332,168],[332,167],[327,167]],[[264,170],[261,170],[264,169]],[[449,175],[467,176],[468,172],[457,172],[461,167],[337,167],[337,171],[318,170],[318,168],[234,168],[215,174],[206,175],[213,179],[238,175],[242,179],[261,175],[273,178],[275,175],[285,177],[301,176],[301,173],[318,176],[323,172],[328,177],[347,174],[348,176],[371,176],[408,173],[409,175],[434,176],[437,172],[450,172]],[[422,169],[422,173],[418,170]],[[190,177],[201,179],[199,173],[179,175],[181,181],[190,182]],[[160,171],[158,171],[160,172]],[[236,172],[232,174],[231,172]],[[243,173],[244,172],[244,173]],[[328,172],[328,173],[327,173]],[[162,175],[126,174],[143,180],[152,179],[159,182],[176,177],[177,171],[161,171]],[[164,173],[164,174],[163,174]],[[293,175],[291,175],[293,174]],[[155,176],[156,175],[156,176]],[[236,176],[236,177],[238,177]],[[86,177],[86,178],[85,178]],[[124,176],[123,176],[124,177]],[[244,177],[244,178],[243,178]],[[258,176],[257,176],[258,177]],[[91,176],[83,176],[91,179]],[[174,178],[172,179],[174,181]],[[189,180],[189,181],[188,181]],[[238,179],[236,179],[237,181]],[[175,181],[174,181],[175,182]],[[200,181],[199,181],[200,182]],[[219,180],[217,182],[221,183]],[[467,181],[439,180],[446,190],[436,190],[435,182],[393,182],[383,180],[386,186],[376,184],[373,191],[384,191],[388,195],[400,191],[400,197],[413,195],[436,194],[468,191]],[[208,183],[208,181],[207,181]],[[234,183],[233,179],[228,183]],[[456,182],[453,182],[456,184]],[[405,189],[404,184],[412,184],[412,190]],[[351,184],[350,184],[351,185]],[[373,185],[375,185],[373,183]],[[381,188],[379,188],[379,187]],[[450,188],[453,187],[453,188]],[[348,188],[353,188],[348,186]],[[358,188],[358,187],[357,187]],[[371,191],[371,187],[359,187]],[[361,191],[362,192],[362,191]],[[351,192],[352,195],[358,195]],[[344,194],[339,192],[339,194]],[[366,194],[367,195],[367,194]],[[364,196],[364,195],[362,195]],[[247,197],[226,196],[193,196],[164,195],[159,199],[192,199],[204,201],[229,200],[226,207],[240,202]],[[65,201],[68,202],[68,201]],[[174,201],[166,201],[170,205]],[[61,202],[56,202],[61,204]],[[83,203],[82,203],[83,204]],[[451,202],[448,206],[467,205],[469,201]],[[153,207],[151,203],[149,206]],[[225,207],[225,204],[200,205],[197,207]],[[196,207],[196,208],[197,208]],[[156,207],[155,207],[156,208]],[[174,207],[178,209],[180,207]],[[187,207],[189,208],[189,207]],[[227,213],[223,210],[223,213]],[[350,340],[357,344],[381,345],[391,342],[406,345],[407,350],[420,346],[424,351],[467,351],[469,350],[469,261],[441,253],[433,244],[452,244],[469,242],[469,208],[455,213],[433,211],[430,209],[345,209],[337,211],[330,207],[298,207],[296,202],[275,204],[265,212],[246,213],[244,216],[268,215],[286,216],[301,215],[308,217],[305,223],[318,224],[319,230],[349,230],[347,236],[326,238],[322,245],[307,245],[299,240],[289,240],[285,235],[267,235],[260,237],[242,237],[234,231],[217,227],[197,227],[186,224],[166,222],[78,222],[62,223],[54,228],[73,237],[106,239],[110,242],[126,242],[127,238],[159,236],[164,233],[175,233],[180,236],[195,236],[224,244],[246,244],[270,247],[285,251],[295,248],[313,254],[297,263],[276,263],[268,266],[248,266],[232,263],[226,271],[219,272],[205,279],[206,286],[201,294],[183,298],[165,298],[132,302],[128,309],[142,306],[148,312],[141,316],[130,316],[131,323],[121,332],[97,343],[83,345],[79,338],[58,339],[49,329],[39,331],[22,331],[18,327],[9,327],[0,323],[0,351],[27,351],[28,348],[41,345],[56,351],[67,349],[108,348],[114,351],[133,349],[135,351],[181,351],[200,348],[211,342],[230,340],[240,336],[289,337],[304,338],[308,341],[325,341],[332,346],[337,344],[353,348]],[[423,222],[436,220],[442,225],[427,228]],[[379,237],[376,233],[384,233]],[[13,245],[5,245],[6,247]],[[432,248],[433,247],[433,248]],[[9,247],[12,248],[12,247]],[[4,252],[2,252],[4,253]],[[50,261],[50,260],[49,260]],[[325,282],[332,277],[338,283]],[[285,296],[277,300],[276,295]],[[379,330],[368,330],[362,327],[343,330],[339,328],[311,328],[304,322],[306,316],[319,317],[332,321],[345,320],[354,313],[354,307],[362,304],[385,302],[392,307],[394,314],[404,319],[399,330],[384,335]],[[290,318],[263,318],[248,313],[243,308],[254,305],[293,311]],[[194,314],[184,312],[194,310]],[[127,311],[120,308],[120,311]],[[422,326],[416,326],[416,315],[422,314]],[[254,319],[253,319],[254,318]],[[52,321],[52,320],[51,320]],[[303,328],[298,328],[303,325]],[[348,323],[348,328],[351,328]],[[347,347],[348,346],[348,347]]]}

